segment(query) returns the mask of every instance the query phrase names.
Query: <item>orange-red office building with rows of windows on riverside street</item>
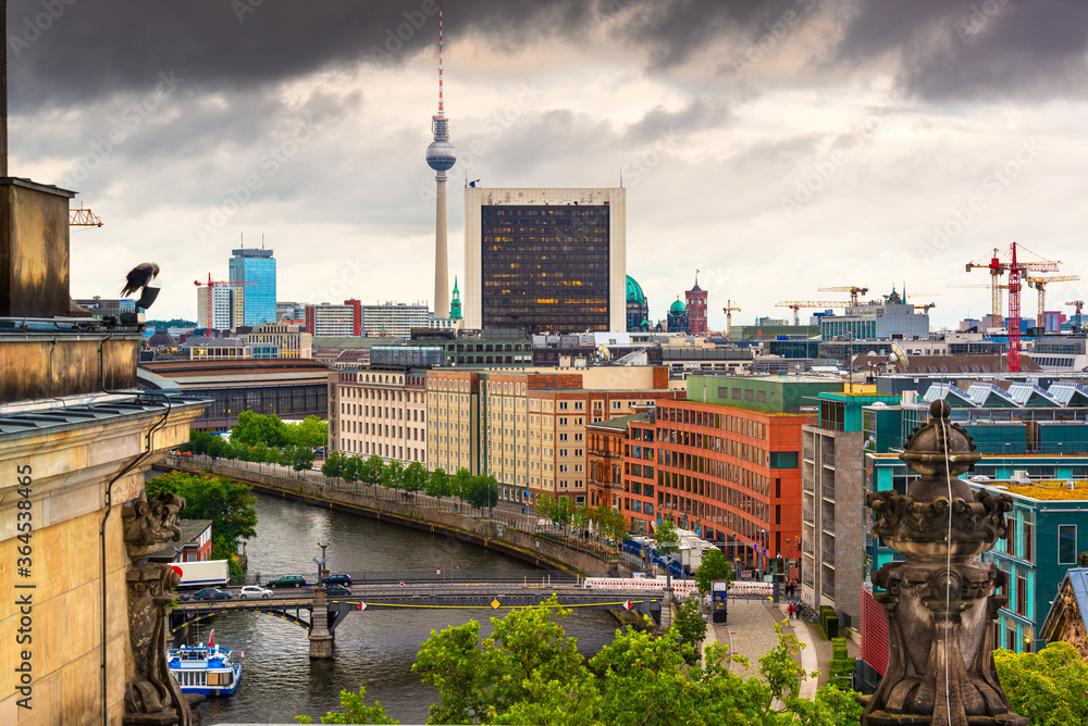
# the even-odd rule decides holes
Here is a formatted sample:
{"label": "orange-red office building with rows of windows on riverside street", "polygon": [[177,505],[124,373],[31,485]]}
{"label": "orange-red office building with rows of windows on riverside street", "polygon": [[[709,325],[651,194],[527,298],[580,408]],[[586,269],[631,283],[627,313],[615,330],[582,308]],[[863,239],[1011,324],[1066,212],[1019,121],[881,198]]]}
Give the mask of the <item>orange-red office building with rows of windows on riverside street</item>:
{"label": "orange-red office building with rows of windows on riverside street", "polygon": [[[766,550],[769,571],[801,536],[801,426],[807,421],[803,414],[658,401],[653,413],[616,420],[613,430],[586,428],[599,441],[591,488],[597,497],[622,497],[634,533],[648,534],[668,516],[725,544],[742,566],[764,564]],[[616,439],[623,446],[620,481]]]}

